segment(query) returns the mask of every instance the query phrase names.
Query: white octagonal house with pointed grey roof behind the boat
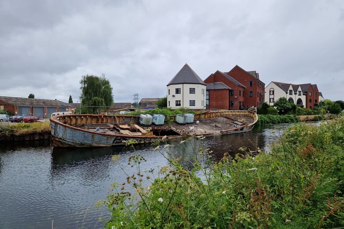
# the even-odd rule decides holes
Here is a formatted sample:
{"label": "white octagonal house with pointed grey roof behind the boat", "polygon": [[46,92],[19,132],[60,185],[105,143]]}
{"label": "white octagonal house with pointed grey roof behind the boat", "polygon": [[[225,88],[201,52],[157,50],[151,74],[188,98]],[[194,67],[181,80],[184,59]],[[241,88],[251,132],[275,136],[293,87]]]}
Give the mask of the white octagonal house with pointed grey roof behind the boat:
{"label": "white octagonal house with pointed grey roof behind the boat", "polygon": [[167,84],[167,107],[206,109],[207,84],[185,64]]}

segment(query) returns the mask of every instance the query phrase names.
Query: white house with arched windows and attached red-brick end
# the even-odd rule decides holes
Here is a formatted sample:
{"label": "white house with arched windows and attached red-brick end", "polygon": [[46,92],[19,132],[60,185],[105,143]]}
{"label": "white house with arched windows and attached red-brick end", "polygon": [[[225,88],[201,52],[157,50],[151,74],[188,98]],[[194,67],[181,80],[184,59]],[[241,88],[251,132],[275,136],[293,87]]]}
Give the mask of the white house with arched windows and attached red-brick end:
{"label": "white house with arched windows and attached red-brick end", "polygon": [[271,106],[274,106],[275,101],[279,98],[285,97],[298,107],[313,109],[315,105],[319,104],[319,99],[323,99],[318,86],[311,83],[291,84],[271,81],[265,87],[265,91],[269,93],[268,96],[265,96],[265,102]]}

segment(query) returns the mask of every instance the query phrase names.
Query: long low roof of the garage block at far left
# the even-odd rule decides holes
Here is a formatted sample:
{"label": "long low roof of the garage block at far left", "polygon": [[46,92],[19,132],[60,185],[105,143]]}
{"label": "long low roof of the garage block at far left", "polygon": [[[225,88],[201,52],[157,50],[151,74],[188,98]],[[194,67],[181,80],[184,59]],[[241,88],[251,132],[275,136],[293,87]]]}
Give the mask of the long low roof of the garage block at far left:
{"label": "long low roof of the garage block at far left", "polygon": [[65,103],[59,100],[50,99],[31,99],[31,98],[20,98],[20,97],[8,97],[0,96],[0,100],[8,104],[16,106],[30,106],[30,107],[71,107],[69,103]]}

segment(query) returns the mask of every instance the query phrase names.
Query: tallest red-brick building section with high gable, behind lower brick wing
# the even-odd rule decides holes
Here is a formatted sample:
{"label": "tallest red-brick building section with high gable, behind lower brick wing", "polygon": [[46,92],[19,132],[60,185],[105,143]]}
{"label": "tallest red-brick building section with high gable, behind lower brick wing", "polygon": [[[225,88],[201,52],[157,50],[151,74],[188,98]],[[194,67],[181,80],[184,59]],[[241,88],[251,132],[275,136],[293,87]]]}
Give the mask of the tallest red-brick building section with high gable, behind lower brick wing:
{"label": "tallest red-brick building section with high gable, behind lower brick wing", "polygon": [[234,66],[227,75],[236,79],[245,86],[244,92],[244,106],[247,107],[260,107],[264,102],[265,96],[265,83],[259,79],[259,73],[256,71],[246,72],[238,65]]}

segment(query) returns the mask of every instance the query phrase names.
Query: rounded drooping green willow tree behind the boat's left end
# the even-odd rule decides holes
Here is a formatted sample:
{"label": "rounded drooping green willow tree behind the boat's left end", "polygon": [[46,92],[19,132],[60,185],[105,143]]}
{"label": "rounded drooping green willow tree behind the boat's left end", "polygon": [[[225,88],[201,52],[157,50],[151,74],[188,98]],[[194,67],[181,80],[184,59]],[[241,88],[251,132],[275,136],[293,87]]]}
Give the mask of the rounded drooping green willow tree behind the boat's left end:
{"label": "rounded drooping green willow tree behind the boat's left end", "polygon": [[102,77],[82,76],[80,84],[80,101],[84,107],[83,111],[89,114],[99,114],[100,111],[107,111],[111,107],[114,102],[112,87],[104,75]]}

